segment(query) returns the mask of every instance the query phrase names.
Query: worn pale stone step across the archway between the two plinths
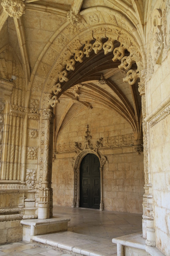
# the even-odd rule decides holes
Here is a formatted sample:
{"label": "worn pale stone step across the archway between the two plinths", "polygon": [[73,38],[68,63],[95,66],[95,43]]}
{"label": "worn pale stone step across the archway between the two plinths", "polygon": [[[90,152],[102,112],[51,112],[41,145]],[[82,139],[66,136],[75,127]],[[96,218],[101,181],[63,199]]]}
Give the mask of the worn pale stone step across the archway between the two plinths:
{"label": "worn pale stone step across the archway between the two plinths", "polygon": [[33,236],[32,241],[72,255],[117,256],[117,246],[112,241],[70,231]]}

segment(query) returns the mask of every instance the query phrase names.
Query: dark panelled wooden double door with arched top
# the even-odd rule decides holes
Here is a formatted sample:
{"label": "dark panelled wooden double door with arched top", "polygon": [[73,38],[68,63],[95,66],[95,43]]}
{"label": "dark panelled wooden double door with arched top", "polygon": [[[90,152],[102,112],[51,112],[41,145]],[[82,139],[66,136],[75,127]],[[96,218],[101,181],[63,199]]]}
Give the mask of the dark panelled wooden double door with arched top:
{"label": "dark panelled wooden double door with arched top", "polygon": [[87,154],[80,165],[80,207],[100,208],[100,161]]}

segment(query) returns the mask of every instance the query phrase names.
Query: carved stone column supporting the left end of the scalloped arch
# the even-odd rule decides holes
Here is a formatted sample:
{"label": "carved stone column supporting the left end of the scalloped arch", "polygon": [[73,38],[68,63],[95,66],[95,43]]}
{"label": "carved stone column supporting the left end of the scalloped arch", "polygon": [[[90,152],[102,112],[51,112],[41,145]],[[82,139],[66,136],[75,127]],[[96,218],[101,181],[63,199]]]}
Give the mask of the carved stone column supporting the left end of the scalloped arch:
{"label": "carved stone column supporting the left end of the scalloped arch", "polygon": [[[52,111],[50,109],[40,111],[40,123],[43,128],[44,141],[41,141],[43,147],[43,166],[42,166],[42,187],[39,188],[38,199],[38,218],[47,219],[50,215],[50,187],[49,187],[49,143],[50,143],[50,121]],[[41,175],[39,173],[39,175]]]}

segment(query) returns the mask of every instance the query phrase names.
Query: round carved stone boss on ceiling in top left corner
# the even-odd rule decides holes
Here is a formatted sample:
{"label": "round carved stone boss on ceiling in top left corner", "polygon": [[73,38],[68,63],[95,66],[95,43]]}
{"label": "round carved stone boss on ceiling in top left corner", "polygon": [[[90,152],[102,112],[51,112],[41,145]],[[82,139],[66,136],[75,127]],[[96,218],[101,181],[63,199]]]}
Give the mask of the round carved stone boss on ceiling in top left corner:
{"label": "round carved stone boss on ceiling in top left corner", "polygon": [[1,5],[10,17],[18,19],[25,13],[25,4],[22,0],[3,0]]}

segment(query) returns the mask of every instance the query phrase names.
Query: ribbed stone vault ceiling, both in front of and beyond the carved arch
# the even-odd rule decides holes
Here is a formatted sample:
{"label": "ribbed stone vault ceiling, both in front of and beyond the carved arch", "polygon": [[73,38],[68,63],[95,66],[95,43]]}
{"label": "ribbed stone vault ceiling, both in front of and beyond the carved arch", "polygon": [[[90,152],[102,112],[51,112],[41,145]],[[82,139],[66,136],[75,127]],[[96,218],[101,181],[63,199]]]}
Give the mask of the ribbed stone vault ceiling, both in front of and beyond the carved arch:
{"label": "ribbed stone vault ceiling, both in front of and beyond the carved arch", "polygon": [[[0,5],[0,49],[10,46],[15,52],[17,61],[23,69],[25,91],[26,93],[28,91],[28,95],[36,76],[38,63],[42,58],[42,51],[52,44],[53,35],[59,34],[60,28],[66,26],[68,23],[66,15],[70,10],[78,14],[85,12],[87,8],[99,6],[119,11],[135,27],[144,45],[143,24],[147,1],[25,0],[23,2],[26,4],[25,14],[19,19],[10,17]],[[57,47],[55,45],[54,47],[57,51]],[[89,58],[84,57],[82,63],[76,63],[74,71],[68,72],[69,82],[62,83],[63,93],[54,111],[56,136],[68,122],[68,116],[72,118],[84,108],[95,105],[116,111],[130,123],[136,134],[141,134],[141,98],[138,93],[138,83],[134,85],[124,83],[123,77],[126,74],[118,68],[120,61],[113,62],[112,58],[113,53],[105,55],[104,50],[98,54],[91,52]],[[1,65],[0,71],[3,68]],[[136,68],[135,64],[133,68]]]}

